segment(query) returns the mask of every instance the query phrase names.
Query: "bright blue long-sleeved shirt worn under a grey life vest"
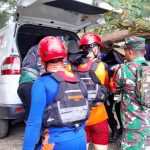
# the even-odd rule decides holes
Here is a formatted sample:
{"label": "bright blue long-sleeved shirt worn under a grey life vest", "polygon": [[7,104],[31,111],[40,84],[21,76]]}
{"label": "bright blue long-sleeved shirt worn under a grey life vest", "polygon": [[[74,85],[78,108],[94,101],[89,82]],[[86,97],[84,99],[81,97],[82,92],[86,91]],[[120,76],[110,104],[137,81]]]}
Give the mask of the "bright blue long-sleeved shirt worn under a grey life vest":
{"label": "bright blue long-sleeved shirt worn under a grey life vest", "polygon": [[[32,103],[29,118],[27,121],[23,150],[33,150],[40,136],[42,117],[45,107],[54,102],[59,84],[50,75],[38,78],[32,87]],[[84,123],[76,131],[74,127],[49,128],[50,138],[48,143],[63,142],[85,136]]]}

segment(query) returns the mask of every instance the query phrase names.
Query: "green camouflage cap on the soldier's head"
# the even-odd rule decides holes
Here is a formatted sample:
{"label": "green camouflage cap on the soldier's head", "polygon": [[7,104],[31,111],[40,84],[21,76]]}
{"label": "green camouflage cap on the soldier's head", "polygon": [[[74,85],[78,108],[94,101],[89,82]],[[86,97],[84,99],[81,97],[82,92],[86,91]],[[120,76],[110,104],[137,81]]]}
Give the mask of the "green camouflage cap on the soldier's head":
{"label": "green camouflage cap on the soldier's head", "polygon": [[125,38],[125,50],[145,50],[145,38],[130,36]]}

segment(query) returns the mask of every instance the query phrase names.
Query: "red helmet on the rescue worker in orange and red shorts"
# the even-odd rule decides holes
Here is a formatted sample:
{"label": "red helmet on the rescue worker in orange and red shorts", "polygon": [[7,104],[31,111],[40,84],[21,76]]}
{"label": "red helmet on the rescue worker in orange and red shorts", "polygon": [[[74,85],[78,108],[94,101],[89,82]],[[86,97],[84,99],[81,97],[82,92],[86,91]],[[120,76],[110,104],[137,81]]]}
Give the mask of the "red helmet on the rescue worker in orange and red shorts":
{"label": "red helmet on the rescue worker in orange and red shorts", "polygon": [[88,32],[81,37],[79,41],[79,47],[93,43],[99,44],[102,49],[104,48],[101,38],[92,32]]}

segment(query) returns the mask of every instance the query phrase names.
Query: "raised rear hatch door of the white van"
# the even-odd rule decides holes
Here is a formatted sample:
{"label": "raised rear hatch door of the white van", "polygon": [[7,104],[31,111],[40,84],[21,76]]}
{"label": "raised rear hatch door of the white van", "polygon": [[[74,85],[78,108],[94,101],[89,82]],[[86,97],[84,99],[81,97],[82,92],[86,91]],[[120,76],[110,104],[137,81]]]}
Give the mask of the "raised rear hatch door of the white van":
{"label": "raised rear hatch door of the white van", "polygon": [[[85,1],[86,2],[86,1]],[[98,25],[107,10],[75,0],[20,0],[16,21],[72,32]]]}

